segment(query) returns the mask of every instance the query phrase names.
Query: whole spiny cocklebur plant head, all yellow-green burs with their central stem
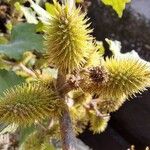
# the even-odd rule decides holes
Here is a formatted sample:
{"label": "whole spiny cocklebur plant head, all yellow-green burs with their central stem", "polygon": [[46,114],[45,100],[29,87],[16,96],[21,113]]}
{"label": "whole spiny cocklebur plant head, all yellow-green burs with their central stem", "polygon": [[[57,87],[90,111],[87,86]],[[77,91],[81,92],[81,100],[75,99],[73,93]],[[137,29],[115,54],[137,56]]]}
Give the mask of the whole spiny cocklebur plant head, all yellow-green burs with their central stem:
{"label": "whole spiny cocklebur plant head, all yellow-green burs with their central stem", "polygon": [[103,132],[111,112],[150,86],[150,63],[131,54],[104,58],[89,19],[75,6],[54,1],[44,32],[44,58],[58,69],[57,79],[39,77],[6,90],[0,121],[37,127],[22,149],[46,149],[55,138],[62,139],[64,150],[77,149],[73,133],[88,125],[94,133]]}

